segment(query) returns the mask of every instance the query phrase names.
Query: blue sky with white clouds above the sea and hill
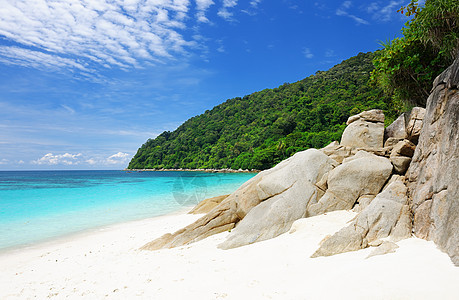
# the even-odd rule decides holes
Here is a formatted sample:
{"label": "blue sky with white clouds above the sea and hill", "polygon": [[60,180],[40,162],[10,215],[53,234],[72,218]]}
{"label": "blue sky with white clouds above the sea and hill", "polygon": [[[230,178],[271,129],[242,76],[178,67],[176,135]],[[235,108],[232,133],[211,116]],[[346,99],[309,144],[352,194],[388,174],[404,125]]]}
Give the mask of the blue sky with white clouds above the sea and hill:
{"label": "blue sky with white clouds above the sea and hill", "polygon": [[122,169],[226,99],[380,48],[405,2],[2,0],[0,170]]}

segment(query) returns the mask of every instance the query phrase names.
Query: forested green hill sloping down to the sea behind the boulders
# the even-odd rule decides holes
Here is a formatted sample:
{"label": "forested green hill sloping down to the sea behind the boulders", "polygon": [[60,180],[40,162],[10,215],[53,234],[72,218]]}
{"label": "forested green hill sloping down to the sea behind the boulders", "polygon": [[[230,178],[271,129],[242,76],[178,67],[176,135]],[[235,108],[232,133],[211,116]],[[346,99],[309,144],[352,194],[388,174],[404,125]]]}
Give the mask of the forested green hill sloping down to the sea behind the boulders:
{"label": "forested green hill sloping down to the sea behind the boulders", "polygon": [[398,112],[369,84],[373,56],[360,53],[301,81],[229,99],[149,139],[128,168],[266,169],[339,140],[360,111],[381,108],[390,121]]}

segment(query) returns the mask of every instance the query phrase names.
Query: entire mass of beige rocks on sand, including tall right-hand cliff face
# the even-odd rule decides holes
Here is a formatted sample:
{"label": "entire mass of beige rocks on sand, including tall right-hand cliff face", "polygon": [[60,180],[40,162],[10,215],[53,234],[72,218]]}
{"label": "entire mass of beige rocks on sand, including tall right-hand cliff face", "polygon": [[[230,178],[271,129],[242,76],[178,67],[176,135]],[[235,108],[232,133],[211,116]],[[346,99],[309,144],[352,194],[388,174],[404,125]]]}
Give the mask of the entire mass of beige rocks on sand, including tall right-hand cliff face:
{"label": "entire mass of beige rocks on sand, including tall right-hand cliff face", "polygon": [[[231,195],[205,200],[195,223],[145,245],[186,245],[230,230],[229,249],[276,237],[297,219],[353,209],[357,217],[313,254],[365,247],[389,253],[414,233],[432,239],[459,264],[459,61],[437,78],[427,110],[419,107],[384,129],[384,114],[351,116],[341,142],[296,153]],[[407,171],[408,170],[408,171]]]}

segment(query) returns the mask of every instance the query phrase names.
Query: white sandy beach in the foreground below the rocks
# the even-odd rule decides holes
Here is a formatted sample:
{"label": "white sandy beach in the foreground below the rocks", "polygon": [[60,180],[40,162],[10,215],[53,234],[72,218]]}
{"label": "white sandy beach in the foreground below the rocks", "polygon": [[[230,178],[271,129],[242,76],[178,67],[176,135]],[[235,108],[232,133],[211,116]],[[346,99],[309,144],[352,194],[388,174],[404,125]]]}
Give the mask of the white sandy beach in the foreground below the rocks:
{"label": "white sandy beach in the foreground below the rocks", "polygon": [[137,250],[196,215],[111,226],[1,254],[0,299],[458,299],[459,268],[432,242],[411,238],[368,259],[372,249],[309,258],[353,216],[302,219],[292,233],[232,250],[217,248],[228,233]]}

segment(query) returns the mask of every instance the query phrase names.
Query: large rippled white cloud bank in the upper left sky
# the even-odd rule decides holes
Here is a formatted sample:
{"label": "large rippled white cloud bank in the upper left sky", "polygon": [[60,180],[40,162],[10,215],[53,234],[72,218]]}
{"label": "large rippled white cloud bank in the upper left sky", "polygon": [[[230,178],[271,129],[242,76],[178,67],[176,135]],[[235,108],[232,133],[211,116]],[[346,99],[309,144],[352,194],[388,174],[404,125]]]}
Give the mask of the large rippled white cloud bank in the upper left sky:
{"label": "large rippled white cloud bank in the upper left sky", "polygon": [[[204,12],[212,1],[197,0]],[[32,68],[138,67],[186,53],[188,0],[3,0],[0,61]]]}

